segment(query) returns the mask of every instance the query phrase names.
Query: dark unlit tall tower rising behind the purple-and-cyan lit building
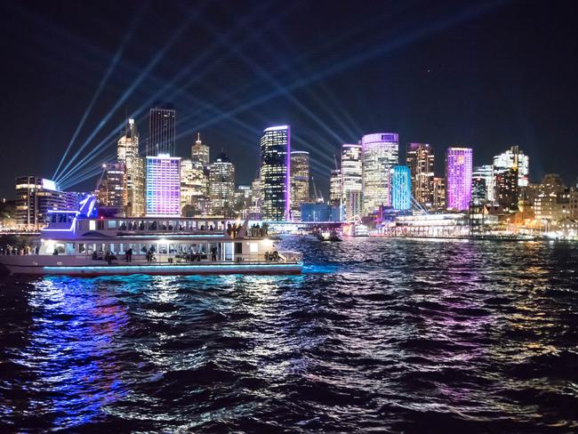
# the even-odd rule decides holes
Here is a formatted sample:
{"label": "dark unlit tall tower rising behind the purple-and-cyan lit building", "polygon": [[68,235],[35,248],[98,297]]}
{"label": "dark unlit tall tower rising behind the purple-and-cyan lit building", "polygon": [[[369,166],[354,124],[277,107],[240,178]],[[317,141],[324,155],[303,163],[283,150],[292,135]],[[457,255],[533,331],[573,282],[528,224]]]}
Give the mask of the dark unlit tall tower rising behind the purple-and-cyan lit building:
{"label": "dark unlit tall tower rising behind the purple-and-cyan lit building", "polygon": [[174,156],[176,112],[170,103],[157,104],[149,113],[149,141],[147,157],[160,154]]}

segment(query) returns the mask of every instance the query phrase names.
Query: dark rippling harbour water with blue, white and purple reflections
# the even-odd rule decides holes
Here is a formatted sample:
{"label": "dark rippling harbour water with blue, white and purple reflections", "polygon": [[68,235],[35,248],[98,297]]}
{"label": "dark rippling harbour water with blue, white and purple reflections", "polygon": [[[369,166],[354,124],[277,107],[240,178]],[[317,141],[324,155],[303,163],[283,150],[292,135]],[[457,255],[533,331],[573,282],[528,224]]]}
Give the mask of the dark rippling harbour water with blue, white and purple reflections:
{"label": "dark rippling harbour water with blue, white and purple reflections", "polygon": [[289,239],[297,277],[0,277],[3,431],[578,430],[574,245]]}

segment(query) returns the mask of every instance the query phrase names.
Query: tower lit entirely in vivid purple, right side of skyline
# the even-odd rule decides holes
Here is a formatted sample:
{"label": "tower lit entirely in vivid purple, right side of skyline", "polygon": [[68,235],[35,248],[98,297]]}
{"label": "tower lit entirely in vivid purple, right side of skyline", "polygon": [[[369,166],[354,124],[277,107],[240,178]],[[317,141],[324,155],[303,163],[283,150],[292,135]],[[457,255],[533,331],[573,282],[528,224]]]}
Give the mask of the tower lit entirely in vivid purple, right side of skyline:
{"label": "tower lit entirely in vivid purple, right side of skyline", "polygon": [[448,148],[446,153],[446,208],[470,209],[472,150]]}

